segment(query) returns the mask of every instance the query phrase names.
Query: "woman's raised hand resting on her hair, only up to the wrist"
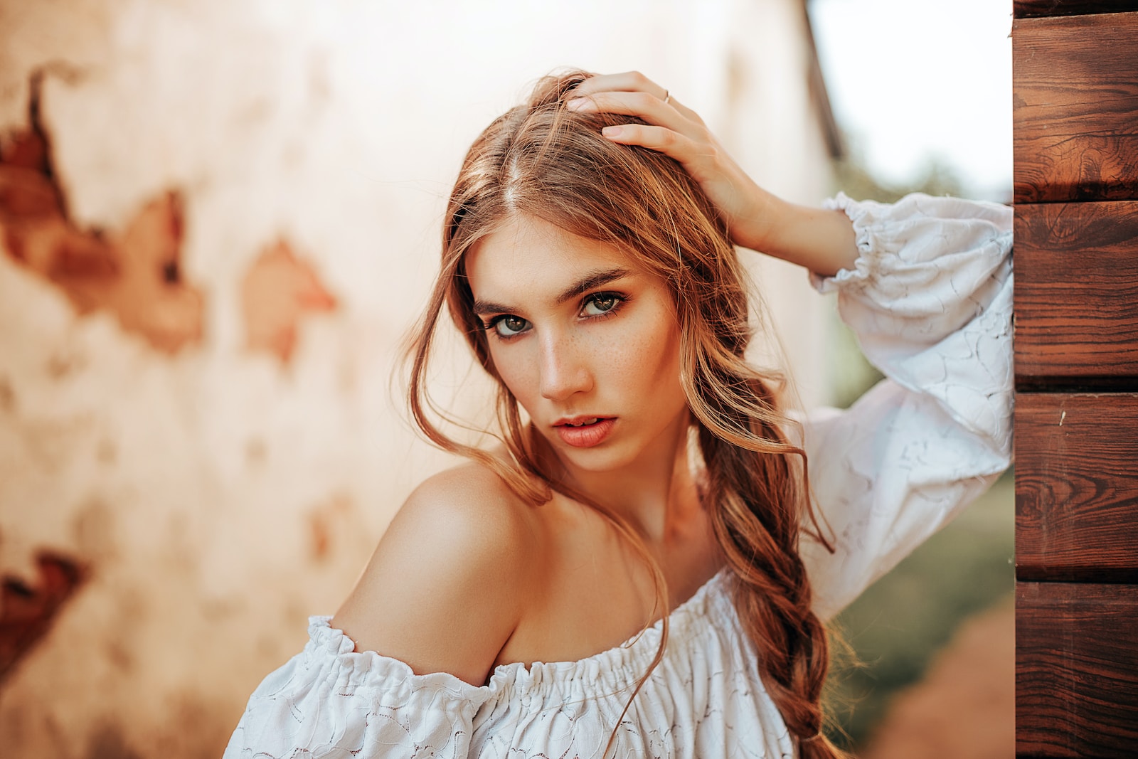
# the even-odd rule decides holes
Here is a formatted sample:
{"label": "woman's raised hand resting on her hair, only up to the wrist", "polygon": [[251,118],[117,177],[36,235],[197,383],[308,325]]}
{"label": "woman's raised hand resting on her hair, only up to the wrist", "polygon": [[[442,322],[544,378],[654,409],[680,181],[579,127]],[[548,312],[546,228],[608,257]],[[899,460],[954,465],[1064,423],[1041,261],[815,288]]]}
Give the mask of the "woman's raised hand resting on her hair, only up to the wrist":
{"label": "woman's raised hand resting on her hair, only up to the wrist", "polygon": [[774,196],[747,175],[703,119],[640,72],[605,74],[585,80],[567,104],[572,110],[640,116],[645,124],[607,126],[602,134],[622,145],[638,145],[679,162],[719,209],[732,240],[762,249],[766,220]]}

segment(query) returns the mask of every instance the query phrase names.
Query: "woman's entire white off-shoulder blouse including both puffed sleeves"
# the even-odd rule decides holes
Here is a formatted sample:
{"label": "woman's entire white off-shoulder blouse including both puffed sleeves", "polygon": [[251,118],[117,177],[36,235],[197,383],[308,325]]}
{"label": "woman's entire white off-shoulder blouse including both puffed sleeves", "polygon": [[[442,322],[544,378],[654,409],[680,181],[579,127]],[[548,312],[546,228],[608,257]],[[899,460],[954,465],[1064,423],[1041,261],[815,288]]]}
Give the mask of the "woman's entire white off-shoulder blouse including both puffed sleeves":
{"label": "woman's entire white off-shoulder blouse including both puffed sleeves", "polygon": [[[1007,468],[1013,385],[1009,208],[924,195],[827,205],[852,220],[860,255],[815,286],[838,291],[887,379],[848,411],[802,420],[814,495],[836,537],[833,554],[802,541],[823,619]],[[663,660],[622,718],[659,622],[587,659],[505,665],[473,686],[356,653],[328,621],[311,618],[304,651],[254,692],[226,759],[601,759],[613,729],[616,757],[797,756],[726,570],[671,612]]]}

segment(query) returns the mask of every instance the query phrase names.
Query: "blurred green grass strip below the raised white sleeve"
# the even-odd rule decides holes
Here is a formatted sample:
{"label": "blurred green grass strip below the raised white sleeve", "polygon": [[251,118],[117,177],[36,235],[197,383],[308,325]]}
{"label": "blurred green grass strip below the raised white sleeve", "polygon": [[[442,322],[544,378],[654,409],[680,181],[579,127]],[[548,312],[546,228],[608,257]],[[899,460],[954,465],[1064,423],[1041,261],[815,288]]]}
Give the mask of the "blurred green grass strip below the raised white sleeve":
{"label": "blurred green grass strip below the raised white sleeve", "polygon": [[890,699],[921,679],[960,622],[1013,593],[1014,525],[1009,471],[838,617],[853,652],[852,662],[835,657],[827,684],[839,745],[864,748]]}

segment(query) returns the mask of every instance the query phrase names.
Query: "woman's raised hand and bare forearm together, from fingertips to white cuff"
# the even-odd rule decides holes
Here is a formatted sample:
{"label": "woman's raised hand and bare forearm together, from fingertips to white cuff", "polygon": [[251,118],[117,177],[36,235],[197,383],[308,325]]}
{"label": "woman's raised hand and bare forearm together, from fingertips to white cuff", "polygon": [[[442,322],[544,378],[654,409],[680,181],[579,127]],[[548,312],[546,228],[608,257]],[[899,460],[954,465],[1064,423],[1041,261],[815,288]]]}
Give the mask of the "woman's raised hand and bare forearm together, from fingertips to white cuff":
{"label": "woman's raised hand and bare forearm together, from fingertips to white cuff", "polygon": [[640,72],[604,74],[582,82],[566,106],[572,110],[638,116],[648,124],[607,126],[602,134],[675,158],[715,204],[731,239],[819,274],[852,267],[853,228],[846,214],[786,203],[747,175],[691,108]]}

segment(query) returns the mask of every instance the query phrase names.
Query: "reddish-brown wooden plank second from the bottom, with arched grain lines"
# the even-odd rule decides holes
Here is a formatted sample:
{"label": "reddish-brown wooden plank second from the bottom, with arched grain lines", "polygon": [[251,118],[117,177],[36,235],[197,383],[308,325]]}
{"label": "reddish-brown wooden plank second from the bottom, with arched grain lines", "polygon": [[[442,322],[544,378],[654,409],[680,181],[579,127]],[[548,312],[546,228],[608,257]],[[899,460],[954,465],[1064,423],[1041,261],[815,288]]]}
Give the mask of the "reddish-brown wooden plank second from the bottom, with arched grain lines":
{"label": "reddish-brown wooden plank second from the bottom, with arched grain lines", "polygon": [[1138,394],[1020,393],[1015,572],[1138,581]]}

